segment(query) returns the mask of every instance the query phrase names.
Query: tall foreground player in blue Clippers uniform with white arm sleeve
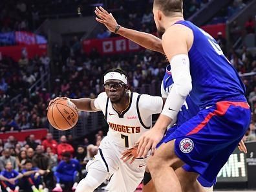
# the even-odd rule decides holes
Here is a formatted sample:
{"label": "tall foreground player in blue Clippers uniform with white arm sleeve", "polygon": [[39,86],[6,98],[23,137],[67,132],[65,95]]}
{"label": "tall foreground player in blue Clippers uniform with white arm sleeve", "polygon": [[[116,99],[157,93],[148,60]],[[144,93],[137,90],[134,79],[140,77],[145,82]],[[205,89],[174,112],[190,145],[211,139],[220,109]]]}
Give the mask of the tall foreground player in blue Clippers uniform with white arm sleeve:
{"label": "tall foreground player in blue Clippers uniform with white arm sleeve", "polygon": [[[245,88],[215,39],[184,21],[182,0],[155,0],[153,13],[174,83],[153,129],[140,138],[138,156],[152,150],[147,165],[156,191],[201,192],[198,175],[215,182],[248,129]],[[166,136],[155,151],[188,94],[200,111]],[[180,169],[178,178],[175,169],[184,164],[186,171]]]}

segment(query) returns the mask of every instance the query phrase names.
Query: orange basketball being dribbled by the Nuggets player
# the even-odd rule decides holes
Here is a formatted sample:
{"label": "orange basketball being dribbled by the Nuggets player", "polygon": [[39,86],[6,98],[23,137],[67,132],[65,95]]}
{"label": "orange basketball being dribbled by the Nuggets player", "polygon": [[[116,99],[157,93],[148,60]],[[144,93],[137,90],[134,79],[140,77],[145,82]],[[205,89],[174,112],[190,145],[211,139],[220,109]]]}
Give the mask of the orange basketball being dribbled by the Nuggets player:
{"label": "orange basketball being dribbled by the Nuggets player", "polygon": [[78,109],[69,100],[57,100],[48,108],[47,118],[52,127],[65,131],[78,122]]}

